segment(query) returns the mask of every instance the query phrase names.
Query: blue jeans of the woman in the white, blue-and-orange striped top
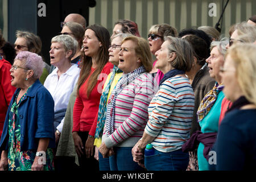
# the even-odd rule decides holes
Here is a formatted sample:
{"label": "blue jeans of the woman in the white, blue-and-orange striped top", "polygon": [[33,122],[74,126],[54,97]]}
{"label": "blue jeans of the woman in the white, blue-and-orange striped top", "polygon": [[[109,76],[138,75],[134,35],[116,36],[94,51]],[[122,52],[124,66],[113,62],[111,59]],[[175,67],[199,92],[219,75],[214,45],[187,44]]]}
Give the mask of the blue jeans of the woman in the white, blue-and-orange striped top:
{"label": "blue jeans of the woman in the white, blue-and-orange striped top", "polygon": [[148,171],[185,171],[188,167],[188,152],[181,149],[173,152],[155,150],[154,155],[144,156],[145,167]]}

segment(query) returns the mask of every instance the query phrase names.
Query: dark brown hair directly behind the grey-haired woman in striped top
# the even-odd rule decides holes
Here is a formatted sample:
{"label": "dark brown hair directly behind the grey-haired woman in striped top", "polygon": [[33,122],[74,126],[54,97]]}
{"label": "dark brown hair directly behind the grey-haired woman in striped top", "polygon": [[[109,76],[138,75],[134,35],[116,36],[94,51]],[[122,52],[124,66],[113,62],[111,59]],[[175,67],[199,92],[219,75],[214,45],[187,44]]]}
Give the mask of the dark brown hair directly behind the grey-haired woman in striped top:
{"label": "dark brown hair directly behind the grey-haired woman in striped top", "polygon": [[205,64],[205,60],[208,58],[207,43],[196,35],[189,35],[186,36],[184,39],[191,44],[194,55],[197,59],[197,64],[203,66]]}

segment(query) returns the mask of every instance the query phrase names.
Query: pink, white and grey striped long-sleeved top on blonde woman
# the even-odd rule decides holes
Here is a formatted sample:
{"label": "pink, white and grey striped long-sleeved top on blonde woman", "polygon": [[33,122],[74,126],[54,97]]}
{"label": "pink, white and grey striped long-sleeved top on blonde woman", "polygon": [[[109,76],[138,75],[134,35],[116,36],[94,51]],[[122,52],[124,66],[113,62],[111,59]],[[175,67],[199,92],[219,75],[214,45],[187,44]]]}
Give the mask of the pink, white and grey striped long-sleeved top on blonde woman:
{"label": "pink, white and grey striped long-sleeved top on blonde woman", "polygon": [[115,102],[114,133],[102,136],[108,148],[133,147],[142,137],[148,121],[147,107],[158,85],[150,73],[142,73],[126,85]]}

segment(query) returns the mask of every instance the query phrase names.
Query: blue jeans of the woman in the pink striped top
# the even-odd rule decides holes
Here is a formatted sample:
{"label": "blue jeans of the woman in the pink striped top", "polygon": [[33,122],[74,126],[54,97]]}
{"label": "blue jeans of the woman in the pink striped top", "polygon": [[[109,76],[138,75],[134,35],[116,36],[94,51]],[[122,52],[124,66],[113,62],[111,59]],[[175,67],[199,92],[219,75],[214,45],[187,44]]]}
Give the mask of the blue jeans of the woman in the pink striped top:
{"label": "blue jeans of the woman in the pink striped top", "polygon": [[114,147],[114,155],[109,157],[111,171],[143,171],[143,168],[133,161],[133,147]]}

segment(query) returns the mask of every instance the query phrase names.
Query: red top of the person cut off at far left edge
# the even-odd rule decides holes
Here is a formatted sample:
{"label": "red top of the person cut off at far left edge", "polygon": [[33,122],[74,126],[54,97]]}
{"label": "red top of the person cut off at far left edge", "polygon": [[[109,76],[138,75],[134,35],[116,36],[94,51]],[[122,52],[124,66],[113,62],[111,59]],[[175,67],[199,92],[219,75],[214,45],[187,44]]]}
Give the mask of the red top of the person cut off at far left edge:
{"label": "red top of the person cut off at far left edge", "polygon": [[10,69],[11,64],[4,59],[0,59],[0,138],[3,131],[3,124],[5,123],[6,112],[16,90],[14,86],[11,86]]}

